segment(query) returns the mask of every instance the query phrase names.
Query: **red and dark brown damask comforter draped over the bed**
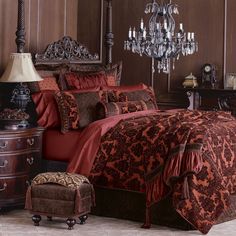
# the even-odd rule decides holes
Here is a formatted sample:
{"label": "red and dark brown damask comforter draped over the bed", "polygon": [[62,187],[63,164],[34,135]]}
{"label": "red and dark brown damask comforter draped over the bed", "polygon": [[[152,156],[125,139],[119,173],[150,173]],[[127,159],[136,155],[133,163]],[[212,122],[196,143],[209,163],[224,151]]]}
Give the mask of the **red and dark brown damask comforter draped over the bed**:
{"label": "red and dark brown damask comforter draped over the bed", "polygon": [[146,192],[147,206],[172,194],[182,217],[207,233],[236,192],[235,134],[225,112],[124,119],[101,138],[90,181]]}

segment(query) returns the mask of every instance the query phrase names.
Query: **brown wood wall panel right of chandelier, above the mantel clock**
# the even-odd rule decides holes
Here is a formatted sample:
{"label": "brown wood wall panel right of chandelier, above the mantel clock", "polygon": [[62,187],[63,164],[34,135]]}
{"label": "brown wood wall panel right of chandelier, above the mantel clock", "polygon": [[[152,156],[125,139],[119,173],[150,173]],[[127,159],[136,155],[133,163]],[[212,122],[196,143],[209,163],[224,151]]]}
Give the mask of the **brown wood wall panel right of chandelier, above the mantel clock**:
{"label": "brown wood wall panel right of chandelier, above the mantel clock", "polygon": [[[201,67],[205,63],[217,66],[217,77],[222,85],[224,62],[224,0],[178,0],[180,15],[186,31],[195,32],[199,51],[181,57],[171,74],[171,90],[182,85],[185,76],[193,72],[201,77]],[[207,14],[204,12],[207,9]],[[177,24],[178,25],[178,24]],[[215,43],[213,43],[215,42]]]}

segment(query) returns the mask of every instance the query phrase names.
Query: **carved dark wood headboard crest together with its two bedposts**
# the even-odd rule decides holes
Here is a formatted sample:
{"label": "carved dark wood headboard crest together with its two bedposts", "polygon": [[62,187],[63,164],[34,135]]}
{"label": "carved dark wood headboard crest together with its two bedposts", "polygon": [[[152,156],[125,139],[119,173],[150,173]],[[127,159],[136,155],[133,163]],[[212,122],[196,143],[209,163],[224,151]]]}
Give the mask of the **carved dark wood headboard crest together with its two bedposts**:
{"label": "carved dark wood headboard crest together with its two bedposts", "polygon": [[[106,33],[105,64],[112,64],[112,46],[114,44],[114,35],[112,33],[112,0],[102,0],[107,3],[106,7]],[[18,22],[16,31],[17,52],[24,52],[25,45],[25,5],[24,0],[18,0]],[[103,17],[103,16],[101,16]],[[35,64],[96,64],[98,62],[97,54],[90,54],[88,49],[73,40],[70,36],[64,36],[57,42],[49,44],[43,54],[35,55]]]}

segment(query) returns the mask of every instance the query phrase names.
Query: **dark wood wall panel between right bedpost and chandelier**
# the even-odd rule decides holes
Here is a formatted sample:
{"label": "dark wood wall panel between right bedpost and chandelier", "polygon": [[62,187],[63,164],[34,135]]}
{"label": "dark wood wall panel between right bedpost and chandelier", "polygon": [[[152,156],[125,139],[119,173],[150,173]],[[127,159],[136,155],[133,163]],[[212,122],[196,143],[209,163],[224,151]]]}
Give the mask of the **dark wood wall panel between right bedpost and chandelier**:
{"label": "dark wood wall panel between right bedpost and chandelier", "polygon": [[113,61],[123,61],[122,84],[147,83],[150,80],[151,59],[124,51],[130,26],[139,26],[144,15],[145,0],[113,0],[113,31],[115,45]]}

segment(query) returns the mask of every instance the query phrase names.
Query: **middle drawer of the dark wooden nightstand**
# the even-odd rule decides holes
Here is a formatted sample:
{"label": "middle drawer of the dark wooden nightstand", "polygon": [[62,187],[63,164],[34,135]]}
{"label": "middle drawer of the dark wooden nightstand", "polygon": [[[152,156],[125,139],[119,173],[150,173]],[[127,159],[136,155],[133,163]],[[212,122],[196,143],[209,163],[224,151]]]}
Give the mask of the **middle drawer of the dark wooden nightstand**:
{"label": "middle drawer of the dark wooden nightstand", "polygon": [[40,168],[40,152],[0,156],[0,175],[30,173]]}

